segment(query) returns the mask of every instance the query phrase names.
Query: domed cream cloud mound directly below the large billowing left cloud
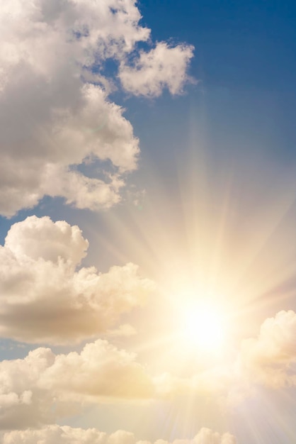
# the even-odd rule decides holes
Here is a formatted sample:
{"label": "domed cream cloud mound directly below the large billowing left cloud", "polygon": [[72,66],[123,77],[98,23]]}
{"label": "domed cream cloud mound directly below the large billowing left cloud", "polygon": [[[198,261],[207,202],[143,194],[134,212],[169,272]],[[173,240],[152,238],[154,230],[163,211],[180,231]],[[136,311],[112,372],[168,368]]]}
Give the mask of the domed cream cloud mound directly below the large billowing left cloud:
{"label": "domed cream cloud mound directly below the large billowing left cloud", "polygon": [[57,355],[40,377],[40,387],[54,387],[67,396],[81,394],[124,399],[152,396],[152,382],[135,353],[118,350],[106,340],[86,344],[81,353]]}

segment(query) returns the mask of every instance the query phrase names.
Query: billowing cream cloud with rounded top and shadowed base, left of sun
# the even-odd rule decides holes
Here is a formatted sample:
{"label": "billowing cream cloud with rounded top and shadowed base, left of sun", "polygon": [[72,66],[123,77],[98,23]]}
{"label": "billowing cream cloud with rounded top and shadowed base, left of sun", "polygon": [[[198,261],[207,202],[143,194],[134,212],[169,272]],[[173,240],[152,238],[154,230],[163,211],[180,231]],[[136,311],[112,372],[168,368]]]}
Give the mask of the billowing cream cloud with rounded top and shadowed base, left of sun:
{"label": "billowing cream cloud with rounded top and shadowed base, left of sun", "polygon": [[144,304],[154,285],[137,265],[79,267],[88,241],[78,226],[30,216],[0,246],[0,335],[28,343],[79,342]]}

